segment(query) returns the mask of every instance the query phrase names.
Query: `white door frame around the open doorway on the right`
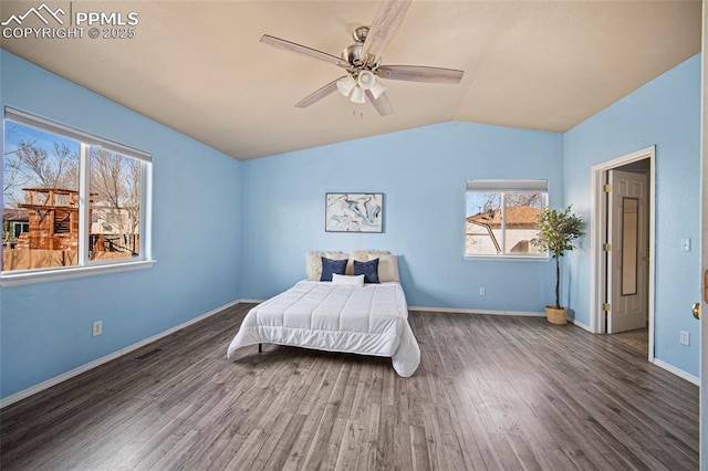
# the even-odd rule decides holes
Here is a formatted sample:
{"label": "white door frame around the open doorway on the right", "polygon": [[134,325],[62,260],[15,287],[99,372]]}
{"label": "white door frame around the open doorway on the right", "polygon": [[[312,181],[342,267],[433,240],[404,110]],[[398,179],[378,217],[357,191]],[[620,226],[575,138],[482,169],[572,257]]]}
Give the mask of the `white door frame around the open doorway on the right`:
{"label": "white door frame around the open doorway on the right", "polygon": [[602,250],[604,234],[607,229],[607,207],[603,186],[607,170],[622,167],[634,161],[649,159],[649,280],[648,280],[648,317],[649,317],[649,353],[648,360],[654,362],[654,283],[655,269],[655,157],[656,146],[649,146],[632,154],[627,154],[612,160],[603,161],[591,167],[590,187],[591,198],[591,224],[590,224],[590,327],[595,334],[605,334],[604,312],[602,305],[607,294],[606,257]]}

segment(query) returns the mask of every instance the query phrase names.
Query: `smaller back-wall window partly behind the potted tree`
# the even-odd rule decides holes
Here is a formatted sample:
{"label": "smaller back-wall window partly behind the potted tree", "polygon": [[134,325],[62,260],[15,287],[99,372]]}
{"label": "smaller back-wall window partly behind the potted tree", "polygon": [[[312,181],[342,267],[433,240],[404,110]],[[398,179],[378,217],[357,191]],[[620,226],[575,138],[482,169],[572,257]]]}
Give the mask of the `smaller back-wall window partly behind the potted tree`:
{"label": "smaller back-wall window partly behind the potted tree", "polygon": [[546,203],[546,180],[468,181],[465,257],[545,258],[531,239]]}

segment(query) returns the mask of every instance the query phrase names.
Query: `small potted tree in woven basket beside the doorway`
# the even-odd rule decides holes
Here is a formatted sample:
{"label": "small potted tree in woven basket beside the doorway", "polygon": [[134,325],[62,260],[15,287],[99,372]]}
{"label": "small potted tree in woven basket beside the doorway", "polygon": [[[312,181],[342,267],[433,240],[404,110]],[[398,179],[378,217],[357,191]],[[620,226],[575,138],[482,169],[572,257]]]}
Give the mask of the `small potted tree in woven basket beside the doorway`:
{"label": "small potted tree in woven basket beside the doorway", "polygon": [[537,228],[539,233],[531,239],[534,247],[551,252],[555,259],[555,305],[545,306],[545,317],[551,324],[568,323],[568,307],[561,306],[561,257],[563,252],[573,250],[574,242],[583,236],[583,220],[575,216],[571,206],[563,210],[543,208],[539,214]]}

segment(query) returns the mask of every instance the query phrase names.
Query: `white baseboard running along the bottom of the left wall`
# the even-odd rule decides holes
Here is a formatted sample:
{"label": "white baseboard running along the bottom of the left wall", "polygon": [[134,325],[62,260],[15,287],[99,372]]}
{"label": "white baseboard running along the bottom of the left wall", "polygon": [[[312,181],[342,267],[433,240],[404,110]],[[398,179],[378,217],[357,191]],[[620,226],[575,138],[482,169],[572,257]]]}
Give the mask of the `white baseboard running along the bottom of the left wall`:
{"label": "white baseboard running along the bottom of the left wall", "polygon": [[71,369],[71,370],[69,370],[66,373],[62,373],[61,375],[54,376],[53,378],[49,378],[49,379],[46,379],[46,380],[44,380],[42,383],[39,383],[39,384],[34,385],[34,386],[30,386],[27,389],[23,389],[21,391],[14,393],[14,394],[12,394],[12,395],[10,395],[8,397],[4,397],[4,398],[0,399],[0,409],[2,409],[3,407],[9,406],[11,404],[14,404],[14,402],[17,402],[19,400],[22,400],[24,398],[28,398],[28,397],[30,397],[32,395],[41,393],[44,389],[49,389],[52,386],[56,386],[58,384],[63,383],[66,379],[73,378],[74,376],[79,376],[82,373],[88,371],[90,369],[93,369],[93,368],[95,368],[97,366],[101,366],[101,365],[103,365],[105,363],[111,362],[112,359],[122,357],[123,355],[126,355],[126,354],[128,354],[128,353],[131,353],[133,350],[136,350],[136,349],[138,349],[140,347],[144,347],[145,345],[147,345],[149,343],[153,343],[155,341],[159,341],[160,338],[166,337],[166,336],[168,336],[170,334],[174,334],[177,331],[181,331],[183,328],[188,327],[191,324],[196,324],[199,321],[202,321],[202,320],[205,320],[205,318],[207,318],[209,316],[212,316],[212,315],[223,311],[227,307],[231,307],[231,306],[233,306],[236,304],[246,303],[246,302],[250,302],[250,301],[246,301],[246,300],[232,301],[232,302],[230,302],[228,304],[225,304],[225,305],[222,305],[220,307],[211,310],[206,314],[201,314],[198,317],[191,318],[191,320],[189,320],[187,322],[184,322],[184,323],[181,323],[179,325],[176,325],[176,326],[174,326],[171,328],[168,328],[167,331],[163,331],[159,334],[155,334],[152,337],[148,337],[148,338],[145,338],[143,341],[139,341],[139,342],[137,342],[137,343],[135,343],[133,345],[128,345],[127,347],[121,348],[117,352],[113,352],[113,353],[111,353],[108,355],[104,355],[101,358],[94,359],[93,362],[88,362],[88,363],[83,364],[81,366],[77,366],[76,368]]}

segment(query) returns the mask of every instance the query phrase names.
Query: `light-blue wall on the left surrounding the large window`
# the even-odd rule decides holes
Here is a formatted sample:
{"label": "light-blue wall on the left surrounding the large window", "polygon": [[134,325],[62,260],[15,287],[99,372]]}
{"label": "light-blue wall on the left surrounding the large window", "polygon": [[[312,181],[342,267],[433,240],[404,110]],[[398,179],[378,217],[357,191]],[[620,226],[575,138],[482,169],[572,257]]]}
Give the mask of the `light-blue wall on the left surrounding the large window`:
{"label": "light-blue wall on the left surrounding the large window", "polygon": [[[243,177],[240,161],[0,53],[3,107],[153,155],[157,261],[146,270],[1,289],[7,397],[238,299]],[[97,320],[103,335],[92,337]]]}

